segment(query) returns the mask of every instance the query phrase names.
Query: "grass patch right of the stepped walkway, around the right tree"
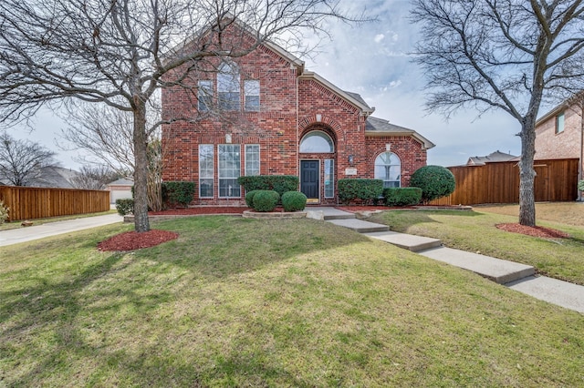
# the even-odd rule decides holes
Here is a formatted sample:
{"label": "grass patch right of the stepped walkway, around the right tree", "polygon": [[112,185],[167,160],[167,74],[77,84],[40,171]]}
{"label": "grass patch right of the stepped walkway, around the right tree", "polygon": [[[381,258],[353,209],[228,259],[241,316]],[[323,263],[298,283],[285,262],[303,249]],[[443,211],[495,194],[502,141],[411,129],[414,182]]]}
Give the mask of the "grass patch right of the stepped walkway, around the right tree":
{"label": "grass patch right of the stepped walkway, around the right tree", "polygon": [[[574,211],[584,211],[583,205],[576,206],[579,208]],[[540,274],[584,285],[584,226],[540,220],[538,225],[565,231],[570,238],[539,239],[496,229],[496,224],[517,222],[517,218],[486,212],[487,209],[491,208],[385,211],[371,220],[390,225],[391,230],[443,240],[450,248],[532,265]],[[508,209],[512,207],[495,210],[506,212]],[[549,211],[549,214],[553,212]],[[547,219],[552,218],[547,216]]]}

